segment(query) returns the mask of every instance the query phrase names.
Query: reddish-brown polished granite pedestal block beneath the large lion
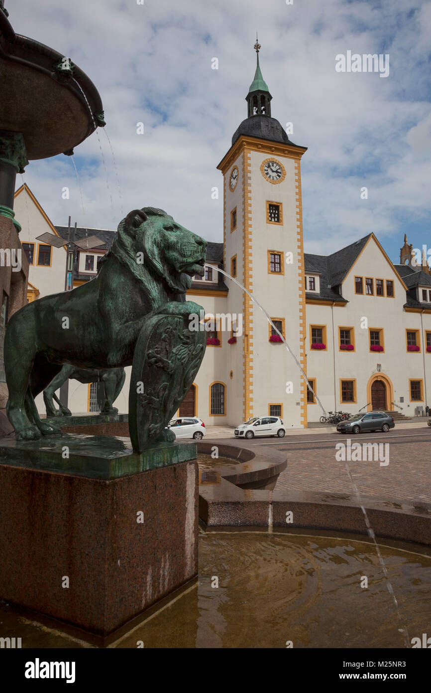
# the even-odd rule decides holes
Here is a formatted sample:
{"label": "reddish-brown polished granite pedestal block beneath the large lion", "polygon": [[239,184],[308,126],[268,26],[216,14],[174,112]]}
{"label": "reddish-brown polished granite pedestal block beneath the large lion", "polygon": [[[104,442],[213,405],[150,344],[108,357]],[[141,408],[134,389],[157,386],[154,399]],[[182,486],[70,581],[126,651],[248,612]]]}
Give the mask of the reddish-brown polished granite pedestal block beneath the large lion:
{"label": "reddish-brown polished granite pedestal block beneath the large lion", "polygon": [[197,574],[196,467],[104,480],[3,461],[0,598],[102,637],[124,627]]}

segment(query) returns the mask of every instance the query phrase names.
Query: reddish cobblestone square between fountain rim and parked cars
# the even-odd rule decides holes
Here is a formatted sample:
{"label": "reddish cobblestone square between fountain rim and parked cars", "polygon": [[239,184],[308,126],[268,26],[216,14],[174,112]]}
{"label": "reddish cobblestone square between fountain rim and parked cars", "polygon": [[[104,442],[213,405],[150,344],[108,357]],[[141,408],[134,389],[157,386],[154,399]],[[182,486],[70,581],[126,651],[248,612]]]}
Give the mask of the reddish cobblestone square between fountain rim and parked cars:
{"label": "reddish cobblestone square between fountain rim and parked cars", "polygon": [[[320,430],[320,435],[289,435],[280,442],[273,438],[259,438],[247,441],[246,446],[270,445],[286,453],[287,468],[279,475],[277,491],[294,489],[350,495],[353,489],[346,462],[336,460],[336,444],[347,444],[347,439],[345,435]],[[387,466],[380,466],[378,461],[347,462],[361,495],[431,502],[431,428],[397,426],[387,434],[361,434],[351,436],[350,440],[352,444],[388,445]],[[229,440],[225,439],[225,442]]]}

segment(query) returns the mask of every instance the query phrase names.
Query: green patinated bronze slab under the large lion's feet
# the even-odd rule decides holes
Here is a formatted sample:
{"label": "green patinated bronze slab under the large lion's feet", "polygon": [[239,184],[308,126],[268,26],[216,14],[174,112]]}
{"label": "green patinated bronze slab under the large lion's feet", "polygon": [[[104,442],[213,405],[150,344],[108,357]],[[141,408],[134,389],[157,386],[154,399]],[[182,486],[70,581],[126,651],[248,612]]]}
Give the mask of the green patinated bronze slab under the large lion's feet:
{"label": "green patinated bronze slab under the large lion's feet", "polygon": [[[67,451],[68,458],[62,457]],[[37,441],[0,441],[0,464],[61,472],[91,479],[119,479],[196,459],[192,441],[159,442],[134,453],[129,438],[64,434]]]}

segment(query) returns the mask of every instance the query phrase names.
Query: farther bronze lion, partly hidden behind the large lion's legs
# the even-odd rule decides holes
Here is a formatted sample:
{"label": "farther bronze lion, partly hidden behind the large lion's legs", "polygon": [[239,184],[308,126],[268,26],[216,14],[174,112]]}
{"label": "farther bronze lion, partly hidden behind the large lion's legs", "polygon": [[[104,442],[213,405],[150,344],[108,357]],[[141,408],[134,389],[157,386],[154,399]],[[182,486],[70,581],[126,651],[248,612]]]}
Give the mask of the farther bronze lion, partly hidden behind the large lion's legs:
{"label": "farther bronze lion, partly hidden behind the large lion's legs", "polygon": [[[126,371],[124,368],[102,368],[98,371],[91,371],[88,368],[75,368],[75,366],[65,363],[61,371],[51,380],[48,387],[44,389],[46,416],[72,415],[71,410],[65,407],[55,394],[55,390],[62,387],[68,378],[77,380],[79,383],[103,383],[104,405],[100,412],[101,414],[118,414],[118,409],[112,405],[125,384]],[[59,409],[55,409],[54,400],[59,405]]]}

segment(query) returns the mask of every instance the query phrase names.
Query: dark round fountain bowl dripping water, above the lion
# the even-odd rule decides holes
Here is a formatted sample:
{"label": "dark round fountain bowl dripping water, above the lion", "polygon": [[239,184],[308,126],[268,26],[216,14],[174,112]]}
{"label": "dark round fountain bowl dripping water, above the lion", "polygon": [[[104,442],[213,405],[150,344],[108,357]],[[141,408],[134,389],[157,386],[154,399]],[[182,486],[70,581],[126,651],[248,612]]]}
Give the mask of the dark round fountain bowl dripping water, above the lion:
{"label": "dark round fountain bowl dripping water, above the lion", "polygon": [[76,65],[59,69],[63,59],[16,34],[0,11],[0,130],[23,134],[29,160],[71,153],[104,125],[98,90]]}

